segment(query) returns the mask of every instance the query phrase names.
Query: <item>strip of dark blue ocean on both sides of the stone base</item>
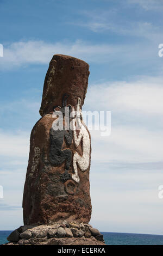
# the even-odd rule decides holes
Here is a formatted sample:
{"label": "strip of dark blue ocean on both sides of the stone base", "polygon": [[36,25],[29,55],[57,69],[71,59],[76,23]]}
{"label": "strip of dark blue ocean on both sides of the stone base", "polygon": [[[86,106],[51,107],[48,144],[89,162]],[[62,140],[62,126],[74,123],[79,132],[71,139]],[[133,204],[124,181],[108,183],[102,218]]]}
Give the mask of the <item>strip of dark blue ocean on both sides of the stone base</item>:
{"label": "strip of dark blue ocean on both sides of the stone base", "polygon": [[[10,230],[0,231],[0,245],[8,242]],[[106,245],[163,245],[163,235],[101,232]]]}

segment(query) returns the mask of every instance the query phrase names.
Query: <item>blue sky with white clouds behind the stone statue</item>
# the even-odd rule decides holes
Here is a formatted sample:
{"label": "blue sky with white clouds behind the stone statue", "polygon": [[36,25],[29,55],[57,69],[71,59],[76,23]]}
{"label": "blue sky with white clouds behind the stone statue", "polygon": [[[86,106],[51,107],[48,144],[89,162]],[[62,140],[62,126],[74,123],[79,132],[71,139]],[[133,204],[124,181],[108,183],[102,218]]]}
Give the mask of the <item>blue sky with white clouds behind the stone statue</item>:
{"label": "blue sky with white clouds behind the stone statue", "polygon": [[60,53],[90,65],[83,110],[111,111],[111,135],[91,131],[90,223],[163,235],[162,10],[162,0],[0,0],[0,230],[23,224],[30,132]]}

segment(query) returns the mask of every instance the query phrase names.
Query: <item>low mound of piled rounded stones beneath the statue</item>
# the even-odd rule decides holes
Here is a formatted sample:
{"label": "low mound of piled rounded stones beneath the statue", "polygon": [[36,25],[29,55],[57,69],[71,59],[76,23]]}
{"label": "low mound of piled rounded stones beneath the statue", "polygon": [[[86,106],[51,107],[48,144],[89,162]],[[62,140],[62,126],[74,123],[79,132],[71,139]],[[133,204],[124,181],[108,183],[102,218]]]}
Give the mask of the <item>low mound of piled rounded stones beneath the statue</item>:
{"label": "low mound of piled rounded stones beneath the statue", "polygon": [[5,245],[105,245],[103,235],[90,224],[66,222],[24,225],[8,236]]}

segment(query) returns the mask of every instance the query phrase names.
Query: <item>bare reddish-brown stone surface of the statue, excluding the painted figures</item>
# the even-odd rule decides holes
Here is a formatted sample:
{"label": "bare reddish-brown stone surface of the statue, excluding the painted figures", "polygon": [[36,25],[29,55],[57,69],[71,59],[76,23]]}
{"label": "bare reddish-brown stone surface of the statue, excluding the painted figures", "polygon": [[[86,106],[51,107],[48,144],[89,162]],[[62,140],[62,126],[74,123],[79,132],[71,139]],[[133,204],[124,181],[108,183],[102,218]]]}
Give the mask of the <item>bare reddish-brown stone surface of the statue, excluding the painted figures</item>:
{"label": "bare reddish-brown stone surface of the statue, excluding the painted figures", "polygon": [[[71,178],[74,174],[73,156],[75,153],[83,154],[82,142],[76,147],[74,139],[70,139],[71,136],[69,142],[64,136],[67,131],[61,131],[58,135],[56,131],[51,130],[53,121],[57,119],[52,117],[53,106],[62,107],[62,97],[65,93],[69,95],[66,106],[71,105],[71,108],[76,110],[80,97],[82,108],[88,76],[89,65],[77,58],[57,54],[49,64],[40,108],[42,118],[37,121],[30,136],[29,163],[23,194],[24,225],[48,224],[62,220],[75,220],[79,223],[90,221],[90,164],[84,171],[78,168],[79,182]],[[83,121],[82,124],[85,126]],[[87,131],[87,128],[85,129]],[[87,134],[90,138],[89,131]],[[55,136],[61,136],[63,139],[62,152],[71,152],[72,155],[67,173],[66,161],[59,165],[55,165],[53,161],[56,160],[53,158],[55,154],[52,154],[56,150],[55,145],[52,147]]]}

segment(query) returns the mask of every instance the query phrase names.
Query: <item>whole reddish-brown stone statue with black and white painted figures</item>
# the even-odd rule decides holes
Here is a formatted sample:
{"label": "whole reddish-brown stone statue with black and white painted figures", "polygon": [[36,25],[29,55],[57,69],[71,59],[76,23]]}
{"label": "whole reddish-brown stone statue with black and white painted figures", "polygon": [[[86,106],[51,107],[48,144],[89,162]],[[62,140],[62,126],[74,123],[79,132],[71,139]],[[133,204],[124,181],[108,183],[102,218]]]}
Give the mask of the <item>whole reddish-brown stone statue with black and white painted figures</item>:
{"label": "whole reddish-brown stone statue with black and white painted figures", "polygon": [[[23,194],[26,225],[90,221],[91,139],[82,118],[88,77],[89,65],[83,60],[56,54],[49,64],[42,118],[30,137]],[[57,130],[60,115],[63,129]]]}

